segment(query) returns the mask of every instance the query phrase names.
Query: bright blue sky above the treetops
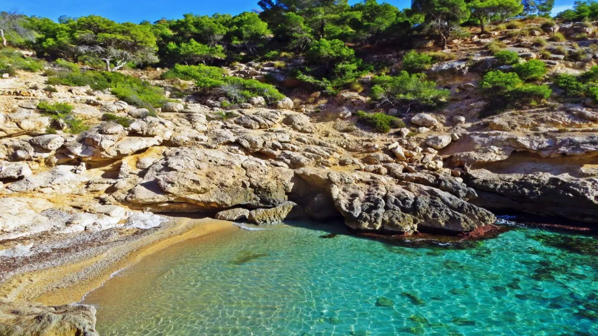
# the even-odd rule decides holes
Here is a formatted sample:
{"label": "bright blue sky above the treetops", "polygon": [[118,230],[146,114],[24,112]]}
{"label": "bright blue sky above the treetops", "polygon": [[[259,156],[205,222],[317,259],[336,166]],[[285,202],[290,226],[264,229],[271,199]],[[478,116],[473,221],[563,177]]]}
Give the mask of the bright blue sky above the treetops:
{"label": "bright blue sky above the treetops", "polygon": [[[382,0],[379,0],[382,2]],[[258,8],[258,0],[0,0],[0,10],[17,8],[26,15],[36,15],[58,19],[61,15],[78,17],[96,14],[118,22],[142,20],[154,22],[162,17],[176,19],[184,13],[239,14]],[[350,3],[358,0],[349,0]],[[410,7],[410,0],[386,0],[399,8]],[[553,13],[572,6],[573,0],[556,0]]]}

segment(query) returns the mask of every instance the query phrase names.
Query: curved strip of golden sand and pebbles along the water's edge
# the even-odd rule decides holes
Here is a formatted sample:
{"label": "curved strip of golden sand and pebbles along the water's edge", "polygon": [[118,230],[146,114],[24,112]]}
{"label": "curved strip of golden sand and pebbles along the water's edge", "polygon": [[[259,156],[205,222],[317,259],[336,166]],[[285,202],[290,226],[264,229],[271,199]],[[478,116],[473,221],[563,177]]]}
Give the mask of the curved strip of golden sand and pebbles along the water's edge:
{"label": "curved strip of golden sand and pebbles along the water's edge", "polygon": [[99,248],[102,251],[97,251],[97,255],[76,261],[59,256],[56,265],[15,274],[0,284],[0,295],[13,301],[49,306],[76,304],[84,295],[144,256],[184,240],[236,228],[233,222],[213,218],[166,217],[169,222],[164,227],[109,248]]}

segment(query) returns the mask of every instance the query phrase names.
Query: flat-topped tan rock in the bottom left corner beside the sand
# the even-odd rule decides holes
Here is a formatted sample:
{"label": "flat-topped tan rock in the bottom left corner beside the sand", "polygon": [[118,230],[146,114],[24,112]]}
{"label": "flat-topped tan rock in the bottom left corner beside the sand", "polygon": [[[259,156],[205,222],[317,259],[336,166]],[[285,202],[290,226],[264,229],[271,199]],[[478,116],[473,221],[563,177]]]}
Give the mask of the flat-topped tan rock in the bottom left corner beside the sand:
{"label": "flat-topped tan rock in the bottom left corner beside the sand", "polygon": [[44,306],[0,298],[0,335],[98,336],[95,327],[93,306]]}

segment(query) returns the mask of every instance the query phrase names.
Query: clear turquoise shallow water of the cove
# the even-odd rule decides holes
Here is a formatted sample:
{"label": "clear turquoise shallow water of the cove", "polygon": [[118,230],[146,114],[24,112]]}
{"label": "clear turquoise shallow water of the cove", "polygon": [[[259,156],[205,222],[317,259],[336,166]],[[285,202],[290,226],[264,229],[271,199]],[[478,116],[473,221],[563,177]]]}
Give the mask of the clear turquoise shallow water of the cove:
{"label": "clear turquoise shallow water of the cove", "polygon": [[172,246],[83,303],[100,335],[598,335],[595,237],[407,248],[269,228]]}

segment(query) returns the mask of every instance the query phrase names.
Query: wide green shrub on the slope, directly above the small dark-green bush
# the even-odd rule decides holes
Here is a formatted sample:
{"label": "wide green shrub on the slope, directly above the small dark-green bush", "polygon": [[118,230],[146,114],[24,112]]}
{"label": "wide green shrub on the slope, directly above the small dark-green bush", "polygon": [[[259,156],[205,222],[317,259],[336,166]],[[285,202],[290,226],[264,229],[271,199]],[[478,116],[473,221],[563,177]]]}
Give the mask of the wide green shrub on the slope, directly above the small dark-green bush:
{"label": "wide green shrub on the slope, directly above the small dark-green bush", "polygon": [[449,90],[437,89],[434,81],[426,80],[424,74],[408,74],[401,71],[398,76],[382,75],[372,78],[370,97],[392,105],[437,106],[449,96]]}

